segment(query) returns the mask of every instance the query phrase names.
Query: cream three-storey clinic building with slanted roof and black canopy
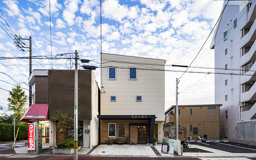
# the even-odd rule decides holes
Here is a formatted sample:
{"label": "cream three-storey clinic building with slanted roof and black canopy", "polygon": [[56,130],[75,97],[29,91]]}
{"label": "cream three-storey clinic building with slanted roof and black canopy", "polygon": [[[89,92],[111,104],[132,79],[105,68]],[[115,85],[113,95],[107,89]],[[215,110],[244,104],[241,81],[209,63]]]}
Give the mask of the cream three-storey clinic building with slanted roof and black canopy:
{"label": "cream three-storey clinic building with slanted roof and black canopy", "polygon": [[100,143],[153,143],[154,134],[162,143],[165,60],[102,53],[101,63]]}

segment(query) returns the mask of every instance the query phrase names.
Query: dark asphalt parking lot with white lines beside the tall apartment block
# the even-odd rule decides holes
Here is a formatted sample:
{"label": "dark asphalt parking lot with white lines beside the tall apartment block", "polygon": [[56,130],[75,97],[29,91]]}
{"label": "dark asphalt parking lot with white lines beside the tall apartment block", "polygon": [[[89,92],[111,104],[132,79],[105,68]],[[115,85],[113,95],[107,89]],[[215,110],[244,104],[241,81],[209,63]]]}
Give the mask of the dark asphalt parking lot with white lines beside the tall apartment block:
{"label": "dark asphalt parking lot with white lines beside the tall apartment block", "polygon": [[[190,142],[191,145],[199,145],[211,149],[218,149],[220,151],[230,152],[230,153],[256,153],[256,146],[245,145],[241,143],[234,142]],[[211,153],[210,151],[200,150],[197,148],[184,147],[183,152],[199,152],[199,153]]]}

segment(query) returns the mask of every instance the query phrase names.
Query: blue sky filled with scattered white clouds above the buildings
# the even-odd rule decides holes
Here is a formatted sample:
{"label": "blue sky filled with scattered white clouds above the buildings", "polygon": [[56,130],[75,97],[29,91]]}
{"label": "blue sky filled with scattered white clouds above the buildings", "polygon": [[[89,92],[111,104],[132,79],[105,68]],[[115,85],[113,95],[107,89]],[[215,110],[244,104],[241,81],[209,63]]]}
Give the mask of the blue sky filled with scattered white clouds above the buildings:
{"label": "blue sky filled with scattered white clouds above the buildings", "polygon": [[[89,64],[99,67],[102,50],[164,59],[166,65],[189,66],[216,24],[223,3],[224,0],[102,0],[100,25],[99,0],[50,0],[51,23],[49,0],[1,0],[0,54],[29,56],[28,49],[20,51],[13,44],[16,34],[32,37],[32,56],[51,57],[77,50],[80,58],[94,60]],[[210,50],[213,34],[214,31],[191,66],[214,67],[214,50]],[[28,40],[23,42],[29,46]],[[70,63],[67,59],[33,59],[32,69],[69,69]],[[170,66],[165,69],[185,70]],[[192,70],[214,72],[188,69]],[[4,89],[10,91],[18,83],[29,95],[29,60],[0,59],[0,72],[0,106],[7,110],[9,92]],[[93,72],[100,84],[100,69]],[[176,104],[176,78],[180,77],[179,105],[214,104],[214,74],[182,74],[165,71],[166,110]]]}

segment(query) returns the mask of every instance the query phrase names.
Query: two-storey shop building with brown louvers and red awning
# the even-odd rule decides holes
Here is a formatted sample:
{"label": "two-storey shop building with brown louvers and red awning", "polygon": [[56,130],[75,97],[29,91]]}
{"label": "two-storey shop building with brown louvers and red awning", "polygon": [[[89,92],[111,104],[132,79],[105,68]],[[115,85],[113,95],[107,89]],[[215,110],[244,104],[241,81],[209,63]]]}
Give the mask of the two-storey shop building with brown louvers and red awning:
{"label": "two-storey shop building with brown louvers and red awning", "polygon": [[[98,144],[98,108],[100,89],[91,70],[78,70],[78,143],[85,148]],[[32,85],[32,103],[22,121],[43,126],[42,141],[55,146],[63,136],[57,134],[55,111],[74,118],[75,72],[74,70],[33,70],[28,83]],[[32,116],[33,115],[33,116]],[[39,117],[39,118],[38,118]]]}

